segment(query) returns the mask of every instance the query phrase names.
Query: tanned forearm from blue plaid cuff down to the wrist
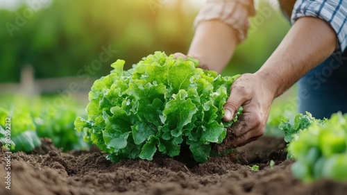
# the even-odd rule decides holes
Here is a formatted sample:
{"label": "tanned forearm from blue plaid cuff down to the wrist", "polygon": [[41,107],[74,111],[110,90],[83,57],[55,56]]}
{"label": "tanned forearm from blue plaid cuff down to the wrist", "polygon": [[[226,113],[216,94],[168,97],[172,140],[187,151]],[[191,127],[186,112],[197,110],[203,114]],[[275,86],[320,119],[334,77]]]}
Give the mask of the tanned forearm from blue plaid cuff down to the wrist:
{"label": "tanned forearm from blue plaid cuff down to the wrist", "polygon": [[310,69],[328,58],[336,44],[335,31],[325,21],[315,17],[302,17],[255,74],[264,80],[273,98],[276,98]]}

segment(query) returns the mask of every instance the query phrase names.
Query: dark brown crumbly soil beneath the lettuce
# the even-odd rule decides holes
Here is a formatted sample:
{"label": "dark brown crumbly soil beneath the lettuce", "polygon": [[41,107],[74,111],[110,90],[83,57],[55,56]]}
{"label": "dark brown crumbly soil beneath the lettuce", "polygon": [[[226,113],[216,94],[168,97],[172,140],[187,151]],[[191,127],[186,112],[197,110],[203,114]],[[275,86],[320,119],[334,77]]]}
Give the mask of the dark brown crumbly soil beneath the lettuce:
{"label": "dark brown crumbly soil beneath the lettuce", "polygon": [[[347,183],[320,180],[304,184],[291,176],[282,139],[262,137],[226,157],[194,164],[187,158],[158,155],[152,162],[112,164],[105,154],[62,153],[49,139],[33,153],[13,153],[11,189],[5,188],[5,153],[1,151],[0,194],[347,194]],[[269,161],[276,165],[271,169]],[[248,166],[257,164],[260,171]]]}

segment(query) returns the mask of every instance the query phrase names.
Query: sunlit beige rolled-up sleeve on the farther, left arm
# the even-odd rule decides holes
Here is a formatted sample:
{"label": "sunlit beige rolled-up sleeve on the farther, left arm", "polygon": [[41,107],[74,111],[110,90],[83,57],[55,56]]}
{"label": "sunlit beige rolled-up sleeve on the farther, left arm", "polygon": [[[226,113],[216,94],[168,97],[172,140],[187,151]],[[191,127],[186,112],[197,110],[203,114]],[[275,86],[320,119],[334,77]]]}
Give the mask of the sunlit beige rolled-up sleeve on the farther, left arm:
{"label": "sunlit beige rolled-up sleeve on the farther, left arm", "polygon": [[248,17],[253,15],[253,0],[208,0],[196,16],[194,28],[203,21],[219,19],[234,28],[242,42],[247,36]]}

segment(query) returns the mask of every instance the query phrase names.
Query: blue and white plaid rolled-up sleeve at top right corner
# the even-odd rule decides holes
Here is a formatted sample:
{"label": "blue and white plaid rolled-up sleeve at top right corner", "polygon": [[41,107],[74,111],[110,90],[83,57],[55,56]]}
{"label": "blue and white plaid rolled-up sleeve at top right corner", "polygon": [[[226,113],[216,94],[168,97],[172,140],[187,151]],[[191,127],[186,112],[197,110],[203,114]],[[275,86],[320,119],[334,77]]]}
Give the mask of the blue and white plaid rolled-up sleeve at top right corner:
{"label": "blue and white plaid rolled-up sleeve at top right corner", "polygon": [[291,24],[300,17],[319,17],[330,24],[337,35],[337,51],[347,46],[346,0],[298,0],[291,13]]}

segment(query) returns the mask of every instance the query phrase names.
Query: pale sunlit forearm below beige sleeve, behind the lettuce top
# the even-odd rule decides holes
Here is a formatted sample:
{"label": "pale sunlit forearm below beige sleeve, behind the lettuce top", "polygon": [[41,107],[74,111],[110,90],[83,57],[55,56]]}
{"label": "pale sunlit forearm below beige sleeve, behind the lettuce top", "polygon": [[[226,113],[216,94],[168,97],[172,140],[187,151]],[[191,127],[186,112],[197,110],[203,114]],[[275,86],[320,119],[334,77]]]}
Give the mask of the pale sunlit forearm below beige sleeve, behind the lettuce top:
{"label": "pale sunlit forearm below beige sleeve, behind the lettuce top", "polygon": [[235,30],[228,24],[217,19],[201,22],[187,55],[198,58],[203,68],[220,73],[234,53],[237,41]]}

